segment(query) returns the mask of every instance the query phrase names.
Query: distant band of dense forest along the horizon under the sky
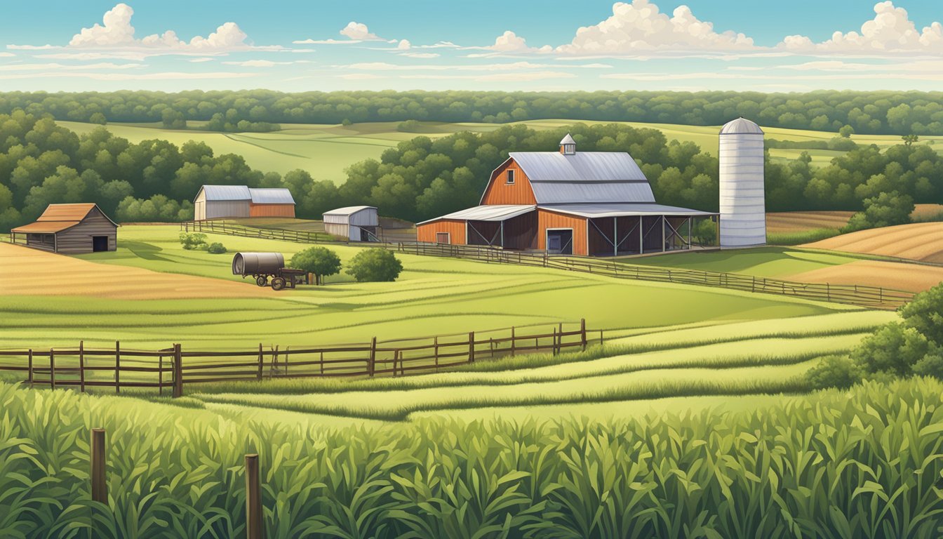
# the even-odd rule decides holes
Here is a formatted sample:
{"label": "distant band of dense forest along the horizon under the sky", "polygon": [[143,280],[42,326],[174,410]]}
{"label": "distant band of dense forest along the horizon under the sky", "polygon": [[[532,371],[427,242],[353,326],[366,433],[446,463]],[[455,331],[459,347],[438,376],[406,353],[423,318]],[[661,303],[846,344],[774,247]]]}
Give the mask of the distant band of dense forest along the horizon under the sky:
{"label": "distant band of dense forest along the horizon under the sky", "polygon": [[[860,134],[943,134],[940,92],[306,92],[0,93],[0,113],[24,109],[77,122],[199,121],[218,131],[280,123],[499,123],[561,118],[720,126],[737,116],[763,125]],[[208,122],[209,125],[202,123]]]}

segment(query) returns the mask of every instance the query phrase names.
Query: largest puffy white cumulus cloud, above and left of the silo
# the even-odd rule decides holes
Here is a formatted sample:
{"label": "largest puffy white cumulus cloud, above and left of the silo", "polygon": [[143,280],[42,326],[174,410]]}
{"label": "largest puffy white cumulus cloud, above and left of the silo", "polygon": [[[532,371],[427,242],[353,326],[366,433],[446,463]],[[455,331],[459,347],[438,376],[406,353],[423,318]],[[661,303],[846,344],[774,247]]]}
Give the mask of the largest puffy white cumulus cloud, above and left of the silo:
{"label": "largest puffy white cumulus cloud, above and left of the silo", "polygon": [[714,25],[701,21],[687,6],[675,8],[672,16],[661,13],[649,0],[618,2],[612,16],[598,25],[582,26],[569,44],[555,50],[565,54],[630,55],[640,51],[748,51],[753,39],[733,31],[715,32]]}

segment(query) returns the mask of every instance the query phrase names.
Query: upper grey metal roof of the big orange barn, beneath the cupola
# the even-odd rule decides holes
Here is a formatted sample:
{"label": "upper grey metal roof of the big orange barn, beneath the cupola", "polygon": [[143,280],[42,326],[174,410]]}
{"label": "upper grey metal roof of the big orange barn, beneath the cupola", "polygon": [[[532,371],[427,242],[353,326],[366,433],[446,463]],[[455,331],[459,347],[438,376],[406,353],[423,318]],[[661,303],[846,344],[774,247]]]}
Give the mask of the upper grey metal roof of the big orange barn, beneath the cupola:
{"label": "upper grey metal roof of the big orange barn, beneath the cupola", "polygon": [[648,178],[625,152],[511,152],[538,204],[651,203]]}

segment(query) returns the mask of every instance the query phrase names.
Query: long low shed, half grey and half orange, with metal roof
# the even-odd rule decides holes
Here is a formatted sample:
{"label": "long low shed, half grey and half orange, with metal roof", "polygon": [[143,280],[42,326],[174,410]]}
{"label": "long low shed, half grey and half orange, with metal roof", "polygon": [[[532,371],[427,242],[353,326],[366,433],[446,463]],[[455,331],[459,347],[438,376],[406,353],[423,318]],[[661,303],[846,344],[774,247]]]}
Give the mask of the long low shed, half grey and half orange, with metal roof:
{"label": "long low shed, half grey and half orange, with metal roof", "polygon": [[294,198],[283,188],[204,185],[193,199],[193,220],[223,217],[294,217]]}

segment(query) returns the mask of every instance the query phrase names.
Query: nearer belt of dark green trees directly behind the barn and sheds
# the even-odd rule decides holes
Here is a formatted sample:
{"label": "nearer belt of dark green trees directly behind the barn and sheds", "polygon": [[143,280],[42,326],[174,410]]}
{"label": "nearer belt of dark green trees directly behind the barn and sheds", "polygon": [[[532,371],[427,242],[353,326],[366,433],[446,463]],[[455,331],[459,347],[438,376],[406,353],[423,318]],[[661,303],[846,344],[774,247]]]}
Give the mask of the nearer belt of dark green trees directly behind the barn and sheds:
{"label": "nearer belt of dark green trees directly behind the barn and sheds", "polygon": [[[567,132],[580,151],[628,151],[659,202],[718,210],[717,157],[695,143],[669,142],[651,128],[504,126],[436,140],[418,136],[389,148],[380,160],[353,163],[338,186],[302,170],[263,173],[238,155],[215,155],[206,143],[129,143],[105,127],[78,136],[48,115],[15,110],[0,114],[0,230],[29,222],[57,202],[97,202],[124,222],[186,220],[202,184],[287,187],[299,217],[318,219],[332,208],[370,204],[384,215],[420,221],[476,205],[508,151],[552,150]],[[769,211],[862,210],[880,194],[918,203],[943,199],[943,158],[929,146],[902,143],[884,152],[849,147],[821,168],[811,166],[806,154],[787,163],[768,158]]]}

